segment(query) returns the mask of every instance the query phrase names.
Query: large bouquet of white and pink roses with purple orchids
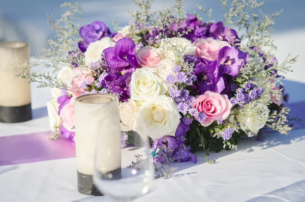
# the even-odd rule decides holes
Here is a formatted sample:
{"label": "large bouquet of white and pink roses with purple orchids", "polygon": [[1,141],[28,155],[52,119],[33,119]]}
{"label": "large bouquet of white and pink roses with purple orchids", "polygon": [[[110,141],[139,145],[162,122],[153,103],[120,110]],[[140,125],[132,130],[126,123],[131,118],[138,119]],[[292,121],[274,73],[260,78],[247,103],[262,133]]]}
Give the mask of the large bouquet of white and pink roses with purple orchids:
{"label": "large bouquet of white and pink roses with purple orchids", "polygon": [[[278,64],[269,27],[278,14],[262,19],[244,10],[262,5],[221,1],[224,22],[186,14],[183,1],[163,11],[150,11],[150,1],[134,1],[134,20],[111,32],[102,21],[72,23],[78,5],[59,20],[50,16],[57,32],[43,56],[28,64],[59,70],[19,74],[28,82],[50,86],[47,103],[53,137],[74,140],[74,99],[82,94],[111,93],[119,97],[121,147],[132,142],[129,131],[145,128],[155,161],[193,160],[198,149],[236,149],[240,136],[272,129],[288,134],[280,73],[290,70],[295,57]],[[251,17],[250,17],[251,16]],[[230,28],[231,27],[231,28]],[[234,27],[235,30],[232,28]],[[242,34],[238,35],[236,30]],[[208,161],[209,162],[209,161]]]}

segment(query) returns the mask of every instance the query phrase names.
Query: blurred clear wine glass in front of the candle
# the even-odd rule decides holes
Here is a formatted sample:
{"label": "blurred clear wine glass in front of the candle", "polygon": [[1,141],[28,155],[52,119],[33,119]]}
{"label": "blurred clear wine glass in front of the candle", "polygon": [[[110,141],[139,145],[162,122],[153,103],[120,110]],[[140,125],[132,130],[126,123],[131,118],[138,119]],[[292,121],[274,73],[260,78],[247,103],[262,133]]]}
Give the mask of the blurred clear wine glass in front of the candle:
{"label": "blurred clear wine glass in front of the candle", "polygon": [[[112,172],[107,162],[115,159],[116,154],[110,147],[106,147],[103,128],[97,137],[95,156],[94,182],[104,195],[119,201],[129,201],[146,194],[150,182],[153,180],[153,165],[150,157],[150,140],[147,135],[139,135],[135,131],[132,134],[132,146],[129,145],[121,150],[120,175]],[[105,158],[108,160],[105,161]]]}

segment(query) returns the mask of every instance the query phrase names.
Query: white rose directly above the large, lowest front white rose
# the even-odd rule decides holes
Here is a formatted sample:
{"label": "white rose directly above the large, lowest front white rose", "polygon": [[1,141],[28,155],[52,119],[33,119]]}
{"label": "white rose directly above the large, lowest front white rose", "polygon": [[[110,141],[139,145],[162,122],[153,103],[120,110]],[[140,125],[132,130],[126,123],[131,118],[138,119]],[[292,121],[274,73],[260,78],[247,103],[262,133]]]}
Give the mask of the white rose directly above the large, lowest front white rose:
{"label": "white rose directly above the large, lowest front white rose", "polygon": [[155,72],[137,69],[129,84],[131,99],[143,103],[148,97],[165,95],[167,85]]}

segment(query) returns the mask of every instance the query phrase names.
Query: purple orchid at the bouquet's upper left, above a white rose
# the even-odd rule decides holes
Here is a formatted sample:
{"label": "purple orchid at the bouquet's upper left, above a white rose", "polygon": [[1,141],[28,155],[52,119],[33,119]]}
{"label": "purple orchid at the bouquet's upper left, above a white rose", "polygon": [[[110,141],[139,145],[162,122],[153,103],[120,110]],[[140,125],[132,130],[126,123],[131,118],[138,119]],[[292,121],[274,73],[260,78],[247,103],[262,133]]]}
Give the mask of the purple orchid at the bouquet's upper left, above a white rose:
{"label": "purple orchid at the bouquet's upper left, above a white rose", "polygon": [[88,45],[98,41],[110,34],[109,28],[102,21],[94,21],[91,24],[80,27],[79,35],[83,39],[78,43],[78,47],[82,52],[85,52]]}

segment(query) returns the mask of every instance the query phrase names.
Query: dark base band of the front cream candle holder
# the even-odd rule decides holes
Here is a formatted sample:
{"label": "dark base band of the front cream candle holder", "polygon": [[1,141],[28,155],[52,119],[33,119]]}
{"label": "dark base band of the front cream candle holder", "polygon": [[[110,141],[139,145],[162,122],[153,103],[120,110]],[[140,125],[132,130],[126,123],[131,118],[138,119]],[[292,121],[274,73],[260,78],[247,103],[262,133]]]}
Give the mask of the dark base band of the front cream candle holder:
{"label": "dark base band of the front cream candle holder", "polygon": [[[111,178],[109,178],[111,176]],[[121,178],[121,168],[115,169],[107,174],[100,174],[99,176],[103,180],[117,180]],[[103,196],[101,192],[96,188],[93,182],[92,175],[82,174],[77,171],[77,189],[80,193],[85,195]]]}

